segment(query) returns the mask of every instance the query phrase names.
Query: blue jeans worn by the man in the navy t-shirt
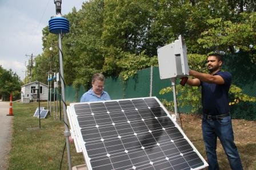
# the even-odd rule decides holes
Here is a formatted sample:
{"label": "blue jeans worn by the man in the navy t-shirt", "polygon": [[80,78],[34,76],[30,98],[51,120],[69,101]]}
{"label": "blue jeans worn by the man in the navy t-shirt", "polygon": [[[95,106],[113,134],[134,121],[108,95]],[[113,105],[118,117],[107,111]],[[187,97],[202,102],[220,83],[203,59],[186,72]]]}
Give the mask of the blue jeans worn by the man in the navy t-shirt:
{"label": "blue jeans worn by the man in the navy t-shirt", "polygon": [[230,116],[227,116],[221,120],[205,119],[203,117],[202,132],[209,169],[219,169],[216,154],[217,137],[221,141],[222,147],[227,155],[227,159],[229,159],[230,168],[233,170],[243,169],[237,146],[235,146],[234,143],[233,128]]}

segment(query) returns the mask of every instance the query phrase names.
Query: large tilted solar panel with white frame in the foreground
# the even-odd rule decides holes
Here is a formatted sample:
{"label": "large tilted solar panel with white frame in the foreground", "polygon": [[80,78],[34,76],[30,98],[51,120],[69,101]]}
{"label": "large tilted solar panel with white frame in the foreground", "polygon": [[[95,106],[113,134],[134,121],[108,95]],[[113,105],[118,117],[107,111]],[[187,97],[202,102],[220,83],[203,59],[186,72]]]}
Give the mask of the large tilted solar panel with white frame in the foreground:
{"label": "large tilted solar panel with white frame in the foreground", "polygon": [[71,103],[88,169],[202,169],[206,161],[156,97]]}

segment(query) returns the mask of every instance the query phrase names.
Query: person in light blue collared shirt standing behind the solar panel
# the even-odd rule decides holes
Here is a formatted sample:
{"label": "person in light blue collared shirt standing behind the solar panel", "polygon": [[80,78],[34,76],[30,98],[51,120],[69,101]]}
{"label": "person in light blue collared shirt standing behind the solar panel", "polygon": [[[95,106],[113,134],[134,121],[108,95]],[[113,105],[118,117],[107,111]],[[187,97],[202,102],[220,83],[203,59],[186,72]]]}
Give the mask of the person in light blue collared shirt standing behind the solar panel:
{"label": "person in light blue collared shirt standing behind the solar panel", "polygon": [[91,85],[93,86],[88,90],[80,99],[80,102],[95,102],[110,100],[110,96],[104,89],[105,77],[101,73],[96,73],[91,78]]}

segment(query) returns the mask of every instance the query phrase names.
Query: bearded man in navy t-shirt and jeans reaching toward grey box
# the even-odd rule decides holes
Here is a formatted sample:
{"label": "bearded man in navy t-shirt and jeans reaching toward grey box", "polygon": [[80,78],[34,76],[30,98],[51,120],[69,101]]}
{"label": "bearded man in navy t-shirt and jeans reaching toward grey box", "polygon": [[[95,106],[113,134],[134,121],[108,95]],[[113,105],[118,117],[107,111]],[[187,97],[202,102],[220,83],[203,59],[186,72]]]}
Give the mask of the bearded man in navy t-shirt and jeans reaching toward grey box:
{"label": "bearded man in navy t-shirt and jeans reaching toward grey box", "polygon": [[213,53],[207,57],[209,74],[190,69],[187,84],[202,87],[202,133],[206,147],[209,169],[219,169],[216,147],[217,137],[226,152],[231,169],[243,169],[237,146],[234,143],[233,128],[229,113],[228,93],[232,76],[222,72],[221,55]]}

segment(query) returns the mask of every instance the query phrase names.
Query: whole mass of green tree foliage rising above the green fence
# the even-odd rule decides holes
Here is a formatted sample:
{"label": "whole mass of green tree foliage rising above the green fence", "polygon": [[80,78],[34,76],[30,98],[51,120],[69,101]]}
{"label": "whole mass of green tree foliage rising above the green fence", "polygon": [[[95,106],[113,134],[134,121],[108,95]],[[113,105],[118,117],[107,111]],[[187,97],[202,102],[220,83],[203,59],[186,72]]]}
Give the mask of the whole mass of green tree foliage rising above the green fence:
{"label": "whole mass of green tree foliage rising above the green fence", "polygon": [[[253,0],[86,1],[81,10],[66,15],[70,22],[70,32],[62,39],[66,85],[88,88],[96,72],[127,80],[139,69],[157,65],[157,48],[179,35],[185,38],[189,67],[197,71],[206,72],[203,59],[210,52],[243,51],[256,63],[255,10]],[[43,53],[33,78],[46,82],[50,59],[58,72],[59,49],[57,35],[49,34],[48,26],[42,32]],[[193,105],[199,105],[199,90],[179,88],[187,103],[194,98]]]}

